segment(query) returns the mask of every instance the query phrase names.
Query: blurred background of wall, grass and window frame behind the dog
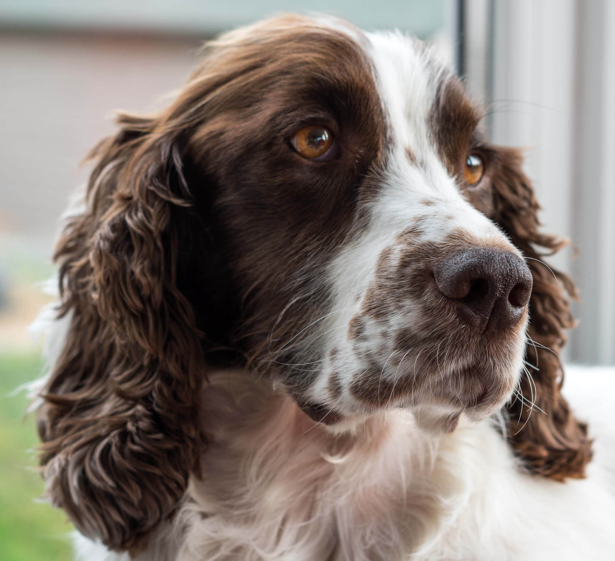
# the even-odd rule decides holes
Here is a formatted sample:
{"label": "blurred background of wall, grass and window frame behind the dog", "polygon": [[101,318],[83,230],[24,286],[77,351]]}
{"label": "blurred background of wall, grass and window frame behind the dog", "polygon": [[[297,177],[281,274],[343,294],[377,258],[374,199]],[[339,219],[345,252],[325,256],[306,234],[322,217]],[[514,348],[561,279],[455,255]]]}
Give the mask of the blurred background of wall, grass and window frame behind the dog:
{"label": "blurred background of wall, grass and window frame behind the dog", "polygon": [[574,250],[548,261],[582,302],[568,363],[615,364],[615,0],[0,0],[0,559],[70,559],[42,483],[26,397],[39,342],[26,326],[79,164],[112,110],[154,109],[202,41],[276,12],[325,12],[435,44],[486,108],[496,143],[526,149],[546,231]]}

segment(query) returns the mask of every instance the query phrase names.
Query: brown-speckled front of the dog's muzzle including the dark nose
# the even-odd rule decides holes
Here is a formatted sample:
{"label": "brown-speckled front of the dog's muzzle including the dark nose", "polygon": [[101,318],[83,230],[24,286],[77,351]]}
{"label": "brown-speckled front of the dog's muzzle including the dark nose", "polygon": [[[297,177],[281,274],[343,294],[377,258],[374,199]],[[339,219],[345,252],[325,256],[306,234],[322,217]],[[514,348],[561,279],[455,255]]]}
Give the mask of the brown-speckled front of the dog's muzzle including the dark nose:
{"label": "brown-speckled front of the dog's muzzle including the dark nose", "polygon": [[480,247],[462,231],[440,243],[408,239],[383,250],[349,326],[362,365],[352,396],[370,408],[501,405],[516,381],[509,365],[520,352],[529,270],[506,242]]}

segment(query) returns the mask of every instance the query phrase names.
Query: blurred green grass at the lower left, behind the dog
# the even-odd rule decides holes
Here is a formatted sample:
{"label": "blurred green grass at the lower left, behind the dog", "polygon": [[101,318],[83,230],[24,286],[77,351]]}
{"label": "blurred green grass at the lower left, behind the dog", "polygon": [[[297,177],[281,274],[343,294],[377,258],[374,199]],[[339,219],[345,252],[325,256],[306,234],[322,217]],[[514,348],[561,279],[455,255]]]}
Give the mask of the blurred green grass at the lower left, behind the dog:
{"label": "blurred green grass at the lower left, behind the dog", "polygon": [[69,561],[73,527],[63,511],[34,502],[43,483],[35,471],[34,415],[23,419],[25,392],[9,397],[41,370],[36,352],[0,353],[0,560]]}

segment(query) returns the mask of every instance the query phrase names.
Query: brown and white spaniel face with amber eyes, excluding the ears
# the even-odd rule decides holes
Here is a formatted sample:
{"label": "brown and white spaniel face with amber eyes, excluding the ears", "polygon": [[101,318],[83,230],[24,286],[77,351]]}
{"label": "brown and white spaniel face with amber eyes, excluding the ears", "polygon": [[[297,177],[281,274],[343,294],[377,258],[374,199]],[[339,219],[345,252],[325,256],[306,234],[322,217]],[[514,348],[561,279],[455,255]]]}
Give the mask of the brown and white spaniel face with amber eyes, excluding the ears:
{"label": "brown and white spaniel face with amber eyes, excluding the ears", "polygon": [[248,352],[324,423],[488,415],[518,381],[532,283],[486,217],[496,151],[422,44],[352,33],[248,41],[256,70],[189,141]]}

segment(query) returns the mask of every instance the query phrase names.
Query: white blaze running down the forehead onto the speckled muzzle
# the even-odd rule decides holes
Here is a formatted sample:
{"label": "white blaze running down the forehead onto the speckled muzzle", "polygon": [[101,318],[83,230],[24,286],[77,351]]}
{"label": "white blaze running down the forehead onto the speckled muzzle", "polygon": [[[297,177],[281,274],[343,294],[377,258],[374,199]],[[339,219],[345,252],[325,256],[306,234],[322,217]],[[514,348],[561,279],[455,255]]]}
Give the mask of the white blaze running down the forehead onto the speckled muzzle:
{"label": "white blaze running down the forehead onto the speckled muzzle", "polygon": [[[384,252],[388,251],[389,260],[399,259],[411,245],[443,244],[447,236],[463,231],[470,236],[469,245],[497,246],[519,255],[493,222],[464,199],[456,178],[451,177],[438,155],[432,111],[438,83],[448,79],[450,72],[435,62],[429,49],[400,33],[369,33],[367,37],[368,55],[387,120],[386,168],[378,193],[368,203],[367,228],[344,247],[329,268],[333,304],[330,316],[320,324],[325,354],[322,372],[311,390],[315,401],[343,415],[363,410],[349,391],[357,376],[367,375],[368,371],[373,376],[380,368],[381,380],[395,383],[396,376],[408,372],[404,361],[415,361],[415,367],[419,364],[415,351],[408,350],[407,356],[400,357],[392,343],[393,330],[404,325],[411,328],[420,324],[417,328],[424,331],[423,303],[416,299],[408,298],[389,317],[365,320],[361,344],[349,338],[349,325],[360,313],[366,291],[383,274],[379,258]],[[394,295],[380,295],[385,299],[389,296]],[[437,324],[440,318],[433,317],[432,321]],[[524,332],[525,322],[511,336],[512,360],[505,357],[503,361],[508,364],[507,372],[498,375],[517,380]],[[449,335],[448,343],[442,341],[447,352],[443,362],[454,364],[454,333]],[[446,365],[443,368],[446,370]],[[442,373],[443,378],[450,375],[451,372]],[[408,397],[406,404],[412,405],[415,398],[427,399],[417,392]],[[403,403],[397,400],[392,405]],[[443,408],[445,413],[454,410],[435,402],[432,405]]]}

